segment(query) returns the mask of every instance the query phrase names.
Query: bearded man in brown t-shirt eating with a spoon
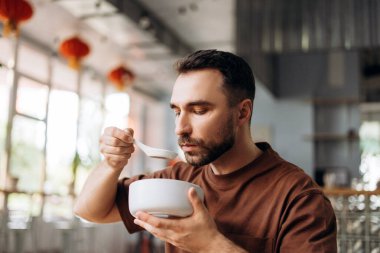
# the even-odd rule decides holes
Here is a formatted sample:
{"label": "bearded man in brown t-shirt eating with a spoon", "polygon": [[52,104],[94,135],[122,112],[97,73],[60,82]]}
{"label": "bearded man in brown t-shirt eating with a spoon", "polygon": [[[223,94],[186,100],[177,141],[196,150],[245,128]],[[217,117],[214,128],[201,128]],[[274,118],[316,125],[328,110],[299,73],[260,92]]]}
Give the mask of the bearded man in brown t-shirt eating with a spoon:
{"label": "bearded man in brown t-shirt eating with a spoon", "polygon": [[[131,233],[145,229],[166,242],[166,252],[336,252],[328,199],[301,169],[251,138],[255,83],[248,64],[231,53],[202,50],[177,70],[170,105],[187,163],[119,180],[134,151],[133,130],[107,128],[100,146],[105,159],[89,176],[75,212],[94,222],[122,220]],[[191,216],[140,212],[135,219],[128,186],[152,177],[198,184],[205,200],[191,189]]]}

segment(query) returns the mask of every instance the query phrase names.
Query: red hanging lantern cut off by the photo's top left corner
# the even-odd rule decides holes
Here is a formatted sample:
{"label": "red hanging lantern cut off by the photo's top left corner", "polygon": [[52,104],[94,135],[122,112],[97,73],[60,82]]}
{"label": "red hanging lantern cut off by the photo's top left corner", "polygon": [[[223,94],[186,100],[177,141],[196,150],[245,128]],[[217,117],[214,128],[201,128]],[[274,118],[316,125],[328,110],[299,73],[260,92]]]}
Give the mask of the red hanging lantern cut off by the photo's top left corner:
{"label": "red hanging lantern cut off by the photo's top left corner", "polygon": [[0,0],[0,21],[3,35],[19,34],[19,25],[33,16],[32,6],[26,0]]}

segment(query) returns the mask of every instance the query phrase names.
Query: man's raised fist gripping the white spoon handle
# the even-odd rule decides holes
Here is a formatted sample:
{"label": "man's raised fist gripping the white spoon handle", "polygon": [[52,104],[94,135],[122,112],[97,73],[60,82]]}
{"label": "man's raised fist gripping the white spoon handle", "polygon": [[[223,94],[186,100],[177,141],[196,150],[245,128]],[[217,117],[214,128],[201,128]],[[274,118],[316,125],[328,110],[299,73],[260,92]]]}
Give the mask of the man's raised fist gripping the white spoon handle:
{"label": "man's raised fist gripping the white spoon handle", "polygon": [[106,165],[114,170],[121,171],[134,151],[131,128],[121,130],[107,127],[100,137],[100,152],[104,155]]}

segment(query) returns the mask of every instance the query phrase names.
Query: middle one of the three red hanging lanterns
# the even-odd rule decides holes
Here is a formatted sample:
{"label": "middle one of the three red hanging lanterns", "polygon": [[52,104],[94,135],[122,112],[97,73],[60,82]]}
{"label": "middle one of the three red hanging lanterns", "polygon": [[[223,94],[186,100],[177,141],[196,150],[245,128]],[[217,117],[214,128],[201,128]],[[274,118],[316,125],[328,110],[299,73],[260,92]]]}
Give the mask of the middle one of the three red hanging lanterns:
{"label": "middle one of the three red hanging lanterns", "polygon": [[80,68],[81,60],[90,53],[90,47],[79,37],[72,37],[61,43],[59,52],[68,60],[73,69]]}

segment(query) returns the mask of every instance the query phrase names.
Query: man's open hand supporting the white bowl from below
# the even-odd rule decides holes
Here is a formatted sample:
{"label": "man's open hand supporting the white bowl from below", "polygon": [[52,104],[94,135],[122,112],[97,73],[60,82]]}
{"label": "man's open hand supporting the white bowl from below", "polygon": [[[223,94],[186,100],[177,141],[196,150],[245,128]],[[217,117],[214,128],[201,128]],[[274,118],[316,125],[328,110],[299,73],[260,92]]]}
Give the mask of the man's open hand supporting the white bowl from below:
{"label": "man's open hand supporting the white bowl from below", "polygon": [[222,252],[216,250],[214,243],[216,241],[220,242],[220,240],[223,243],[219,246],[228,244],[230,247],[235,247],[231,241],[218,231],[214,220],[199,199],[194,188],[189,190],[188,195],[194,210],[191,216],[178,219],[162,219],[144,212],[138,212],[134,222],[157,238],[189,252]]}

